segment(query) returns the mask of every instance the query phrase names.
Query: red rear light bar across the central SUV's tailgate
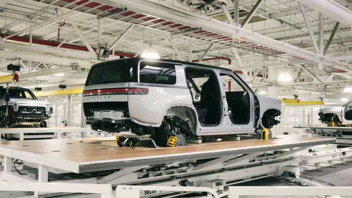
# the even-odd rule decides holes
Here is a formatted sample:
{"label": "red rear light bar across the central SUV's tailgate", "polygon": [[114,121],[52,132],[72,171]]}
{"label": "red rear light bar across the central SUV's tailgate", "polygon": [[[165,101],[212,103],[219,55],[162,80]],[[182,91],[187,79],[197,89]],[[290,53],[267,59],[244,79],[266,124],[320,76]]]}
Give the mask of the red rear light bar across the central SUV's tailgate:
{"label": "red rear light bar across the central SUV's tailgate", "polygon": [[136,95],[145,95],[148,94],[148,88],[105,88],[105,89],[92,89],[84,90],[83,96],[89,95],[115,95],[115,94],[136,94]]}

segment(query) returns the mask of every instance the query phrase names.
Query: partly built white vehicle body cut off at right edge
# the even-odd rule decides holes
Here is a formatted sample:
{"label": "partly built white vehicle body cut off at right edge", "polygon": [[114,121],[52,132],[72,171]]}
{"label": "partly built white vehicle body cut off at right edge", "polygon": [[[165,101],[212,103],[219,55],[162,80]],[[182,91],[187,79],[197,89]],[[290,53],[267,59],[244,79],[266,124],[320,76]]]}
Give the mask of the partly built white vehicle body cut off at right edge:
{"label": "partly built white vehicle body cut off at right edge", "polygon": [[352,125],[352,101],[342,106],[323,107],[318,112],[319,120],[327,126]]}

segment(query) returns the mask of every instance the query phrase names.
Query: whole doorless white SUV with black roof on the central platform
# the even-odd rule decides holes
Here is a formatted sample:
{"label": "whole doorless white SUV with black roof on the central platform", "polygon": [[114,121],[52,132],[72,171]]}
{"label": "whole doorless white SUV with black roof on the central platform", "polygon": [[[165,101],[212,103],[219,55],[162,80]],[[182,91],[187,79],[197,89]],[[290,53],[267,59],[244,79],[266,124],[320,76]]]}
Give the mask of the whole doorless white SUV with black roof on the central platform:
{"label": "whole doorless white SUV with black roof on the central platform", "polygon": [[278,124],[281,104],[256,96],[232,70],[175,60],[118,59],[95,64],[83,90],[86,123],[131,130],[158,146],[169,137],[253,134]]}

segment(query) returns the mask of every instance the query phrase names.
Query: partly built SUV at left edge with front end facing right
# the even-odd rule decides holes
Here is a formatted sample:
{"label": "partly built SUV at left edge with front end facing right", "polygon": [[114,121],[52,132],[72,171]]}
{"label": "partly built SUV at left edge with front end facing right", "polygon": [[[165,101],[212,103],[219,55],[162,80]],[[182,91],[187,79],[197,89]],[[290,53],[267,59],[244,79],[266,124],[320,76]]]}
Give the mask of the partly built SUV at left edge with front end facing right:
{"label": "partly built SUV at left edge with front end facing right", "polygon": [[[10,100],[6,102],[6,92]],[[0,86],[0,127],[10,128],[16,125],[38,125],[47,127],[46,120],[52,114],[52,105],[39,101],[34,93],[21,87]]]}

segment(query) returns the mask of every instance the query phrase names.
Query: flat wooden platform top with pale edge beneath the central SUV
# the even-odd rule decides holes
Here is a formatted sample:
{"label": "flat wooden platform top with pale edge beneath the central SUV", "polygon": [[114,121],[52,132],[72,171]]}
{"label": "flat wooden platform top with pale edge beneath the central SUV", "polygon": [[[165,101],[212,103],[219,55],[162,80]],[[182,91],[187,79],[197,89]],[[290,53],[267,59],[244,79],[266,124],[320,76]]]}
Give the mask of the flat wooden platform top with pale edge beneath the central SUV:
{"label": "flat wooden platform top with pale edge beneath the central SUV", "polygon": [[[86,139],[85,139],[86,140]],[[79,139],[1,141],[0,154],[70,172],[161,164],[334,143],[335,138],[292,137],[224,141],[169,148],[120,148]]]}

